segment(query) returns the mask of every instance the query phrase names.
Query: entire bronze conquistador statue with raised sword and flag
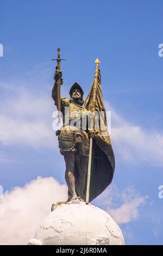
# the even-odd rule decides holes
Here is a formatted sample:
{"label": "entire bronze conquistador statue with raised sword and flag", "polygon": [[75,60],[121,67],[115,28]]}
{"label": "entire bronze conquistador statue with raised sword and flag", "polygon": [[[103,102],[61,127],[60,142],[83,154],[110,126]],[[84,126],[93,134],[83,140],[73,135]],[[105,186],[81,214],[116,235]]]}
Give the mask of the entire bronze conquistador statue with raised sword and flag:
{"label": "entire bronze conquistador statue with raised sword and flag", "polygon": [[[95,78],[85,104],[83,89],[77,82],[70,89],[70,100],[60,96],[60,85],[63,83],[60,60],[60,49],[58,49],[52,97],[63,119],[63,125],[56,135],[60,153],[64,156],[66,164],[68,200],[81,198],[89,203],[111,183],[115,169],[114,153],[106,128],[99,60],[96,60]],[[95,111],[104,113],[104,130],[100,126],[98,130],[95,129],[96,117],[93,114]],[[91,125],[89,125],[90,118]]]}

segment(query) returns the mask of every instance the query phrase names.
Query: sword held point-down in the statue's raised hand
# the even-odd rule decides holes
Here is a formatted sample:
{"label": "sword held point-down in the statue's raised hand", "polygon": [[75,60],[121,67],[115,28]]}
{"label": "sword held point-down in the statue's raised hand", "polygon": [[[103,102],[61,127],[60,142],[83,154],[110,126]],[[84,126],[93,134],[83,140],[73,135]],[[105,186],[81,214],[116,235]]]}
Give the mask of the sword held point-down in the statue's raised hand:
{"label": "sword held point-down in the statue's raised hand", "polygon": [[[57,60],[57,71],[61,71],[60,69],[60,61],[61,60],[66,60],[66,59],[60,59],[60,48],[57,49],[58,51],[58,58],[57,59],[52,59],[52,60]],[[61,78],[57,81],[57,97],[58,97],[58,123],[60,123],[60,114],[61,114],[61,107],[60,107],[60,87],[61,87]]]}

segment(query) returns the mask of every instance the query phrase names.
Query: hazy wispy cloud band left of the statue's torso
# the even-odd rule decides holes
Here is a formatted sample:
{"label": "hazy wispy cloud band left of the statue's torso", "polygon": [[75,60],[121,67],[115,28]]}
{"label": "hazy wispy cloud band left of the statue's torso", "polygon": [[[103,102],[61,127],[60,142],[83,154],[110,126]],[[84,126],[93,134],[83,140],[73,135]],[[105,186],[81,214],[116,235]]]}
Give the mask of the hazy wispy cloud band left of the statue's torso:
{"label": "hazy wispy cloud band left of the statue's torso", "polygon": [[[0,103],[0,142],[31,147],[54,147],[52,102],[26,90]],[[55,142],[54,142],[55,138]]]}

